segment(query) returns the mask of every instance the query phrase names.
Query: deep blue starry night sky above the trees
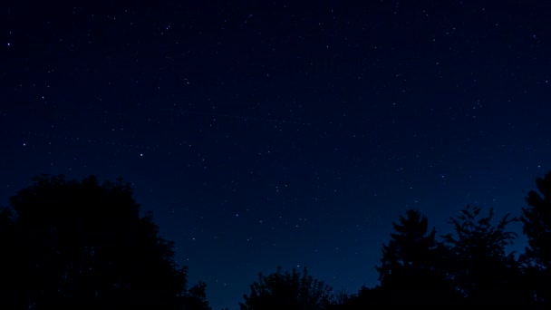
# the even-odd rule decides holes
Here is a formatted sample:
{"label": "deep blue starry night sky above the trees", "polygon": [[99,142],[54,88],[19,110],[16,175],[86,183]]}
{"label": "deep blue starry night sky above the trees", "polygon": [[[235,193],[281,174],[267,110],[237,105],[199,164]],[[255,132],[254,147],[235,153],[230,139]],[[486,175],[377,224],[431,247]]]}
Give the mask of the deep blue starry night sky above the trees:
{"label": "deep blue starry night sky above the trees", "polygon": [[122,176],[217,310],[277,266],[375,286],[407,208],[519,216],[551,170],[551,4],[357,3],[12,1],[0,205]]}

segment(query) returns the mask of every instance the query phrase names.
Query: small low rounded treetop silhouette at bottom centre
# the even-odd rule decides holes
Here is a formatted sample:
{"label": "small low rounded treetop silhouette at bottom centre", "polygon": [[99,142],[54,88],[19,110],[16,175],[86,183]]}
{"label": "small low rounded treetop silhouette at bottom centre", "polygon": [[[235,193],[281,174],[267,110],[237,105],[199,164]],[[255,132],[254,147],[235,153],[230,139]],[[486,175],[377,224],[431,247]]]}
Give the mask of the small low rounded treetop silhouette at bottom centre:
{"label": "small low rounded treetop silhouette at bottom centre", "polygon": [[332,288],[308,276],[305,267],[301,276],[295,268],[282,273],[278,266],[271,275],[259,274],[258,282],[250,288],[250,295],[244,295],[245,303],[239,303],[242,310],[320,310],[333,301]]}

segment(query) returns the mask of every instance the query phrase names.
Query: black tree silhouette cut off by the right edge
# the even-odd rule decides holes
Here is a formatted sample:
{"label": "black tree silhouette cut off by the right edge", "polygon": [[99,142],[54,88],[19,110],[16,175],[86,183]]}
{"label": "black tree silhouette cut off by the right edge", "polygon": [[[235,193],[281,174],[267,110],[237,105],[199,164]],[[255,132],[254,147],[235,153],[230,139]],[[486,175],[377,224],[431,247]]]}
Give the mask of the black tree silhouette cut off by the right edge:
{"label": "black tree silhouette cut off by the right edge", "polygon": [[530,190],[528,208],[522,208],[523,232],[528,247],[522,259],[527,263],[527,277],[536,292],[536,298],[551,305],[551,172],[536,179],[538,194]]}

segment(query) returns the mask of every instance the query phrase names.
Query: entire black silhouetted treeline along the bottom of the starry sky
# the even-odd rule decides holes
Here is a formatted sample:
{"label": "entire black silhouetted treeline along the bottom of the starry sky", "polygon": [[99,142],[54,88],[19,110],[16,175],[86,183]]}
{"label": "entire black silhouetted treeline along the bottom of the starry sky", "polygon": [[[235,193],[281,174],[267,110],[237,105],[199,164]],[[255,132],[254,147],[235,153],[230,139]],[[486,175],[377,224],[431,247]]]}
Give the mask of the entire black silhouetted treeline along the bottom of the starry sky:
{"label": "entire black silhouetted treeline along the bottom of the starry sky", "polygon": [[[518,305],[551,309],[551,172],[536,179],[522,215],[495,222],[494,211],[462,209],[453,233],[430,228],[418,210],[392,223],[382,246],[379,285],[353,295],[280,267],[260,274],[242,310],[366,309],[389,305]],[[487,214],[487,215],[486,215]],[[520,221],[528,247],[506,247]],[[40,176],[0,208],[0,308],[210,309],[206,284],[188,288],[173,242],[159,236],[152,215],[140,217],[128,183],[99,184]]]}

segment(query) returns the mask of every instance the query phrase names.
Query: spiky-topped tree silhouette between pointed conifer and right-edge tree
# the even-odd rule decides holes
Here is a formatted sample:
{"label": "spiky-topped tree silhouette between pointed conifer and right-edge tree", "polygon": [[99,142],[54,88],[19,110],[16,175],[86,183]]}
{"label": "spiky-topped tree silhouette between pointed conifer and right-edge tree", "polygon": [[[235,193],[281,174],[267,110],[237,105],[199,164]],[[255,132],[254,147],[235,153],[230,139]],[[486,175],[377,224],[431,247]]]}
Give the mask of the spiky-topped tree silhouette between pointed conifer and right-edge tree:
{"label": "spiky-topped tree silhouette between pointed conifer and right-edge tree", "polygon": [[480,208],[467,206],[457,218],[449,218],[455,235],[444,236],[452,254],[450,272],[459,292],[469,305],[524,305],[529,302],[527,290],[514,253],[506,254],[517,234],[506,231],[517,218],[502,218],[498,226],[491,224],[494,216],[479,218]]}

